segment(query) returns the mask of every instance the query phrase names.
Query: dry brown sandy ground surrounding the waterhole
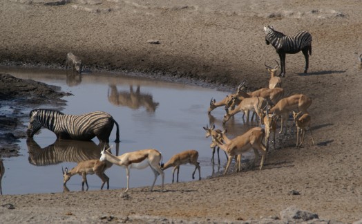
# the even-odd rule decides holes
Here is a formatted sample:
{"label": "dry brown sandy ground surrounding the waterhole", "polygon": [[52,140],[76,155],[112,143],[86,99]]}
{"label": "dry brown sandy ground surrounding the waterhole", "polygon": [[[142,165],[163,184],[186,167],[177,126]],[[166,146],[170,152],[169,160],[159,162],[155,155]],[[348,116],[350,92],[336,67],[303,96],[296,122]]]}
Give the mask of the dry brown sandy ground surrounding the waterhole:
{"label": "dry brown sandy ground surrounding the waterhole", "polygon": [[[313,36],[309,73],[302,73],[301,53],[287,55],[283,87],[286,95],[312,97],[316,145],[307,135],[305,145],[296,149],[291,136],[283,149],[269,153],[262,171],[166,185],[166,192],[137,188],[123,197],[122,189],[3,195],[1,204],[12,203],[15,209],[0,209],[2,221],[97,223],[159,216],[231,222],[280,216],[290,205],[325,220],[362,218],[362,71],[356,70],[362,53],[361,1],[55,3],[0,1],[2,64],[63,66],[72,51],[90,69],[151,71],[229,86],[246,78],[251,88],[259,88],[268,82],[264,62],[278,59],[274,48],[265,45],[263,26],[287,35],[308,30]],[[148,44],[149,39],[160,44]]]}

